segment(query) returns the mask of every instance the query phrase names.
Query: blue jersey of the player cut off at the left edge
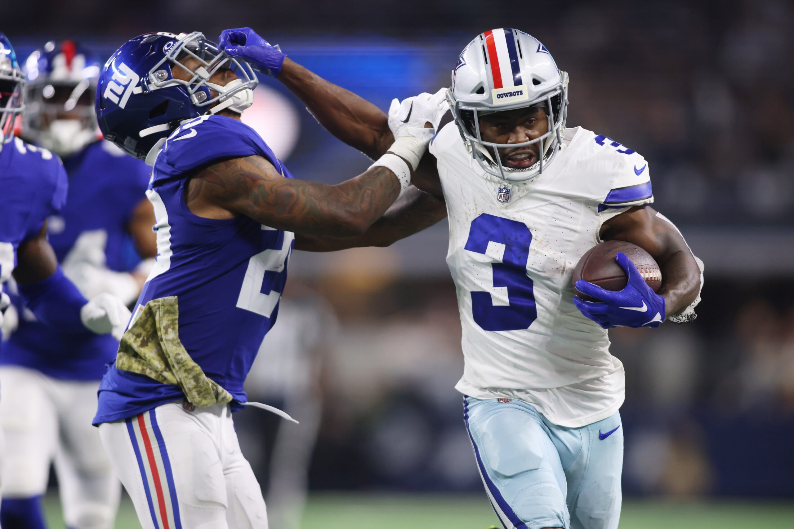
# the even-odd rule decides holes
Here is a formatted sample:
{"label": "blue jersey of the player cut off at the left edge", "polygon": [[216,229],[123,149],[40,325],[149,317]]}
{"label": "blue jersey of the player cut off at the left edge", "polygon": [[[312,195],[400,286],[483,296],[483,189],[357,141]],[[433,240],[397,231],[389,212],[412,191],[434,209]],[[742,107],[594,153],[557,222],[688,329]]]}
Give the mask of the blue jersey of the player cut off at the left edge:
{"label": "blue jersey of the player cut off at the left edge", "polygon": [[[17,248],[60,211],[67,194],[64,166],[50,151],[19,138],[0,144],[0,285],[17,266]],[[0,361],[6,351],[0,352]]]}

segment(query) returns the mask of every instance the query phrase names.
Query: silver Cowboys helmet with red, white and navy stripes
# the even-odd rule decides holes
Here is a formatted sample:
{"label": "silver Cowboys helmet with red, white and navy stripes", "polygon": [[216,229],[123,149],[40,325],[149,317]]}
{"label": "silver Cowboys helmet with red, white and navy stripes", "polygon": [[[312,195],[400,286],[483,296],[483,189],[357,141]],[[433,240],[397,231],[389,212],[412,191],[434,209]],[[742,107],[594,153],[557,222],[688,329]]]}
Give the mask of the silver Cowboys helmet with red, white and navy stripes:
{"label": "silver Cowboys helmet with red, white and navy stripes", "polygon": [[[466,147],[485,171],[510,182],[541,174],[561,148],[568,109],[568,74],[534,36],[517,29],[481,33],[468,43],[452,72],[449,106]],[[480,134],[480,116],[545,106],[548,131],[520,144],[495,144]],[[526,169],[505,167],[499,148],[539,144],[538,162]]]}

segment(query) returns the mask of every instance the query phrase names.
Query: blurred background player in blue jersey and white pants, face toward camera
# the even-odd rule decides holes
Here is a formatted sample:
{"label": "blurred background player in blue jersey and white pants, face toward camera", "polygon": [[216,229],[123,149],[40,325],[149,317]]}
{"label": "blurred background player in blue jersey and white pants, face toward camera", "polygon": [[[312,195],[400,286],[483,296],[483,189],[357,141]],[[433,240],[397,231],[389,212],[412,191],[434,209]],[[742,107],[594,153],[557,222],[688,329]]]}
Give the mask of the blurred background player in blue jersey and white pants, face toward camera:
{"label": "blurred background player in blue jersey and white pants, face toward camera", "polygon": [[[101,68],[98,56],[71,40],[33,52],[22,68],[21,136],[64,160],[66,205],[47,223],[64,274],[86,297],[113,293],[129,305],[146,274],[126,270],[128,233],[143,257],[156,255],[154,213],[145,196],[151,171],[98,136],[94,90]],[[0,354],[6,436],[0,524],[40,527],[40,498],[54,462],[67,527],[113,527],[121,484],[91,418],[105,365],[117,349],[111,335],[59,332],[21,310]],[[24,427],[19,416],[29,417]]]}

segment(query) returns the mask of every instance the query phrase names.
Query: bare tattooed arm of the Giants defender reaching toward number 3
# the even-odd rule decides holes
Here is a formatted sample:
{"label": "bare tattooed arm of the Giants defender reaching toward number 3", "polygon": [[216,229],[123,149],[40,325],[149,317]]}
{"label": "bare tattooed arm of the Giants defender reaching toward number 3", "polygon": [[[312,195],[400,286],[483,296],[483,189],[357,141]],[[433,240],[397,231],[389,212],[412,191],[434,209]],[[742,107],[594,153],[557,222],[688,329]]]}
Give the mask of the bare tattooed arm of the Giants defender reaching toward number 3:
{"label": "bare tattooed arm of the Giants defender reaching toward number 3", "polygon": [[276,229],[344,237],[360,235],[383,215],[400,184],[386,167],[336,186],[284,178],[261,156],[214,163],[187,182],[185,202],[199,217],[245,215]]}

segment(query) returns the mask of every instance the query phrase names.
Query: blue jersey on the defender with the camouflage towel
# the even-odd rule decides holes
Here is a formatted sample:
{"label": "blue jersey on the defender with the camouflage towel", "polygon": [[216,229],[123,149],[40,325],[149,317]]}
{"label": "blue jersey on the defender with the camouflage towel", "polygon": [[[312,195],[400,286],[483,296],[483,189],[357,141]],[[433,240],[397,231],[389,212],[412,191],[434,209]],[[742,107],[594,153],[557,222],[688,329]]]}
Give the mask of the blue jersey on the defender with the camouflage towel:
{"label": "blue jersey on the defender with the camouflage towel", "polygon": [[[176,296],[179,340],[237,403],[247,401],[243,381],[276,321],[295,234],[249,217],[198,217],[187,208],[184,195],[196,169],[250,155],[268,159],[284,177],[292,178],[260,136],[241,121],[202,116],[169,136],[147,191],[155,209],[157,260],[133,312],[134,318],[148,301]],[[111,365],[99,387],[94,424],[183,397],[178,386]]]}

